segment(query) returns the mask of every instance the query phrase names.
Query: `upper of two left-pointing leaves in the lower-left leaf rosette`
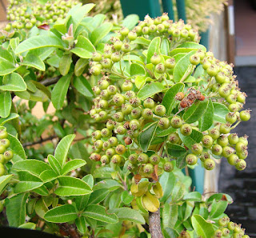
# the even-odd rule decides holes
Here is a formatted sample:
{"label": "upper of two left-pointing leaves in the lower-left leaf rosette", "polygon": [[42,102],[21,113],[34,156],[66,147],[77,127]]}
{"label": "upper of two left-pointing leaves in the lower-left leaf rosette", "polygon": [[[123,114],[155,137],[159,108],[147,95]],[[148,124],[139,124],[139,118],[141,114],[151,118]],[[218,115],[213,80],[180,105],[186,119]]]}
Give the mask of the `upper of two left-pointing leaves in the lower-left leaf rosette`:
{"label": "upper of two left-pointing leaves in the lower-left leaf rosette", "polygon": [[12,169],[17,171],[26,171],[39,177],[42,172],[44,172],[45,170],[50,170],[51,168],[50,165],[46,164],[43,161],[30,159],[14,163]]}

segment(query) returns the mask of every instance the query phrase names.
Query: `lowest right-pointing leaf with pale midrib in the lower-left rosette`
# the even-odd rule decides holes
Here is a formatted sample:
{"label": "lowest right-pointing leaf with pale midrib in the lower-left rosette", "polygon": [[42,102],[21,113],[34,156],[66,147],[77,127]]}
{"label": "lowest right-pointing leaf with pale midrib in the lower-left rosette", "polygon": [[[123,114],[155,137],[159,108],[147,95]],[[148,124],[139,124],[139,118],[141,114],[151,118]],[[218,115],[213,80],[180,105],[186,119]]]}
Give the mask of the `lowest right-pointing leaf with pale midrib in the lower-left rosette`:
{"label": "lowest right-pointing leaf with pale midrib in the lower-left rosette", "polygon": [[59,185],[55,190],[58,196],[81,196],[92,192],[90,186],[85,181],[75,177],[58,177]]}

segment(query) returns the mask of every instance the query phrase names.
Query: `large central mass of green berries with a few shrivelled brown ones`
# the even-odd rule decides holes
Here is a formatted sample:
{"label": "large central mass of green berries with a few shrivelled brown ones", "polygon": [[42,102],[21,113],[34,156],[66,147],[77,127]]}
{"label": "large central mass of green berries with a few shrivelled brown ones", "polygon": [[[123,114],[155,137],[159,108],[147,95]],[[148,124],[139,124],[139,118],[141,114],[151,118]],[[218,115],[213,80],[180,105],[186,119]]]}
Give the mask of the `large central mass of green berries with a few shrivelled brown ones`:
{"label": "large central mass of green berries with a few shrivelled brown ones", "polygon": [[[203,73],[194,77],[192,82],[184,81],[190,77],[189,74],[182,78],[185,87],[176,94],[175,99],[179,103],[171,113],[166,113],[166,107],[162,105],[166,90],[146,99],[139,97],[134,77],[129,75],[129,70],[124,73],[122,69],[122,63],[131,63],[135,56],[143,61],[141,65],[145,69],[146,78],[150,78],[146,83],[157,81],[166,89],[176,83],[173,78],[178,57],[163,54],[158,49],[158,52],[150,55],[150,62],[148,55],[143,56],[150,47],[145,46],[143,41],[154,40],[156,37],[168,38],[170,51],[186,41],[198,42],[198,33],[191,30],[189,25],[182,21],[171,22],[163,14],[155,19],[147,16],[131,31],[123,27],[116,37],[110,39],[111,44],[105,45],[103,54],[94,52],[90,73],[98,78],[100,74],[104,75],[93,88],[96,97],[90,116],[104,126],[92,133],[94,153],[90,158],[101,161],[102,165],[112,162],[114,165],[126,166],[142,177],[152,177],[154,173],[160,174],[161,170],[172,171],[173,163],[170,160],[177,157],[170,156],[166,147],[175,144],[187,150],[184,157],[187,165],[196,165],[200,158],[205,169],[211,170],[215,166],[213,157],[226,157],[236,169],[245,169],[248,141],[246,136],[238,137],[230,131],[241,121],[250,119],[250,110],[239,112],[245,104],[246,94],[240,92],[231,65],[218,61],[211,52],[194,50],[189,58],[190,75],[195,75],[194,69],[200,64]],[[138,63],[138,58],[135,61]],[[183,115],[191,105],[203,101],[222,103],[230,113],[227,113],[226,120],[222,119],[225,123],[214,121],[213,125],[202,131],[202,141],[186,145],[184,137],[192,136],[194,130],[199,131],[199,127],[198,121],[186,123]],[[152,123],[158,124],[158,131],[166,130],[170,133],[166,133],[166,137],[161,138],[164,140],[150,145],[148,151],[143,152],[139,135]]]}

